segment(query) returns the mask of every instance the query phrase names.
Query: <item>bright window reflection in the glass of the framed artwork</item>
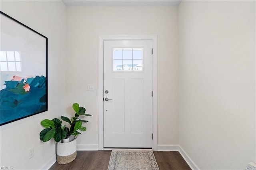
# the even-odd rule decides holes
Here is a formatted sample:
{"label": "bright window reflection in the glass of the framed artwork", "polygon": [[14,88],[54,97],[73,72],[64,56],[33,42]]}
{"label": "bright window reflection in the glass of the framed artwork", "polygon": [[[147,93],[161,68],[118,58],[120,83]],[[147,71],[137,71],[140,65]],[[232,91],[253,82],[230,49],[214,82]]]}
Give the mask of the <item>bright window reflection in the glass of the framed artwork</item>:
{"label": "bright window reflection in the glass of the framed artwork", "polygon": [[22,71],[21,57],[18,51],[0,51],[1,71]]}

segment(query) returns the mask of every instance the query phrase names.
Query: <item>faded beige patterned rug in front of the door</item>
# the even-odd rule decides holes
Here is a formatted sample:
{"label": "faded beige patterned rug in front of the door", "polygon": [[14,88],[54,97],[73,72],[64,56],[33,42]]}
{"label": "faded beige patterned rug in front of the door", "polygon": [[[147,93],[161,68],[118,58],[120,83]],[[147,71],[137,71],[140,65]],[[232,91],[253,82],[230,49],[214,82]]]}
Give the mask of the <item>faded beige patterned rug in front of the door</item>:
{"label": "faded beige patterned rug in front of the door", "polygon": [[108,170],[159,170],[152,150],[112,150]]}

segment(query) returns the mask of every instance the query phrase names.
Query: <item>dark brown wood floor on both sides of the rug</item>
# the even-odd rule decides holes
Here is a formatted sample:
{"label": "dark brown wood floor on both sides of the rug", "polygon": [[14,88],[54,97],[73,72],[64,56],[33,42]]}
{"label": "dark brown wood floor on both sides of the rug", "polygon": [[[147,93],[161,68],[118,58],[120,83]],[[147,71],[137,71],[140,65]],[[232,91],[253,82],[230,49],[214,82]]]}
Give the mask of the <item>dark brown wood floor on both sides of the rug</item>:
{"label": "dark brown wood floor on both sides of the rug", "polygon": [[[111,150],[77,151],[76,159],[69,164],[57,162],[50,170],[107,170]],[[154,156],[160,170],[191,170],[179,152],[157,152]]]}

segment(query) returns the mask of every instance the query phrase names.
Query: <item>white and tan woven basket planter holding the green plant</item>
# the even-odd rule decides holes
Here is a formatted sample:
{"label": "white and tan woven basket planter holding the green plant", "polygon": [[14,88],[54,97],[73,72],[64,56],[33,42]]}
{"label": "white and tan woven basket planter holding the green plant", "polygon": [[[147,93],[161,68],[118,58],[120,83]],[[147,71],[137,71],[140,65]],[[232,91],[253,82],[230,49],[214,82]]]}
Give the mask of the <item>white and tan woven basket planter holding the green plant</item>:
{"label": "white and tan woven basket planter holding the green plant", "polygon": [[76,158],[76,138],[68,143],[57,143],[57,162],[58,164],[68,164]]}

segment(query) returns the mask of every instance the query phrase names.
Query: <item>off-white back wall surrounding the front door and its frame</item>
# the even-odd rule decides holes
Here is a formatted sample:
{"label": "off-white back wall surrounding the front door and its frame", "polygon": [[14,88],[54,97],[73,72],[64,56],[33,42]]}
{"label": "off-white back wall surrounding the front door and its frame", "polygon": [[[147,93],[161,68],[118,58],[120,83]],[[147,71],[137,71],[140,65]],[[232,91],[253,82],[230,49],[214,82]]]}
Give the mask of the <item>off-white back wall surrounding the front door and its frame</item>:
{"label": "off-white back wall surrounding the front door and its frame", "polygon": [[179,143],[178,7],[67,7],[67,105],[92,115],[84,148],[98,144],[98,35],[136,34],[158,35],[158,144]]}

